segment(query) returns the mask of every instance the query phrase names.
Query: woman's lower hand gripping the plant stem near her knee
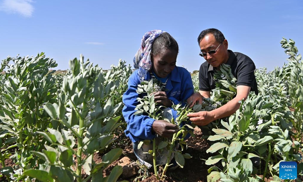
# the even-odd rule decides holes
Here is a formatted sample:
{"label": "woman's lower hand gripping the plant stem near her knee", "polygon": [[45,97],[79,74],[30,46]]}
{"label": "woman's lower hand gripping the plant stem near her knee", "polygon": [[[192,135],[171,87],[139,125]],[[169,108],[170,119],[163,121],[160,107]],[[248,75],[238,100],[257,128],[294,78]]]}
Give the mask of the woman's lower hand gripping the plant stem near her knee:
{"label": "woman's lower hand gripping the plant stem near her knee", "polygon": [[177,125],[171,124],[165,120],[155,120],[152,124],[152,131],[162,137],[172,137],[178,130],[179,128]]}

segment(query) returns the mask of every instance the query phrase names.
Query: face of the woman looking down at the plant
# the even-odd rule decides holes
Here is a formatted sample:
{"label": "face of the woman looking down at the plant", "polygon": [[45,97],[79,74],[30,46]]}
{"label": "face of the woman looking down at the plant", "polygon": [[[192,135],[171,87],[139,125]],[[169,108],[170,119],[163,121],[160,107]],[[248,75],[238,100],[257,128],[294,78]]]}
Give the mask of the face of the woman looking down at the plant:
{"label": "face of the woman looking down at the plant", "polygon": [[163,49],[157,55],[152,55],[152,69],[159,78],[165,78],[176,66],[178,52]]}

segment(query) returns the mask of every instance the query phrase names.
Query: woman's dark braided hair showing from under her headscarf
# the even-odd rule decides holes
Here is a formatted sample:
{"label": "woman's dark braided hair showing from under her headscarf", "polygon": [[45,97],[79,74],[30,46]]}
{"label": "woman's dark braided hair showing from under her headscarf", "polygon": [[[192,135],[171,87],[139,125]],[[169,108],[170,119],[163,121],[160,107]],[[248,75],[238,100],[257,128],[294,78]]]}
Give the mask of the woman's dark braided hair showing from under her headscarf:
{"label": "woman's dark braided hair showing from under her headscarf", "polygon": [[179,46],[177,41],[167,32],[162,33],[154,40],[151,47],[151,53],[154,56],[158,55],[165,48],[176,51],[177,53],[179,52]]}

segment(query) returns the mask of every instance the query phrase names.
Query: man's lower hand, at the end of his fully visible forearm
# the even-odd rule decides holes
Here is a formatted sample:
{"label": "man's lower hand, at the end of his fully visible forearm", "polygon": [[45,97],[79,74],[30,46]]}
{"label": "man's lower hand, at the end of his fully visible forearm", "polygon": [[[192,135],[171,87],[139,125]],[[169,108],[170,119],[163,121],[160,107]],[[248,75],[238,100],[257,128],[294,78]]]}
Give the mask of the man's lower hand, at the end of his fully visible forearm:
{"label": "man's lower hand, at the end of his fully visible forearm", "polygon": [[198,113],[187,114],[192,123],[199,126],[208,125],[215,120],[215,116],[209,111],[200,111]]}

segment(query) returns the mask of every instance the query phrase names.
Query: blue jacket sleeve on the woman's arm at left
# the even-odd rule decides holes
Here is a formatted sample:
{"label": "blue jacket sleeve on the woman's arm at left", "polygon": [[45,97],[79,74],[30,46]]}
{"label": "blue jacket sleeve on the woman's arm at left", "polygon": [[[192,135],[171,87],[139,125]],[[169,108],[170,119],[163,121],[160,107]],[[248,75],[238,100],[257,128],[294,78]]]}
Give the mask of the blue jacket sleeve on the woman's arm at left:
{"label": "blue jacket sleeve on the woman's arm at left", "polygon": [[123,94],[122,100],[125,106],[122,109],[123,117],[127,123],[125,130],[132,142],[139,140],[151,140],[155,135],[151,132],[152,124],[155,121],[148,116],[135,115],[135,108],[139,104],[137,98],[139,94],[136,92],[140,80],[137,72],[134,72],[128,80],[128,89]]}

